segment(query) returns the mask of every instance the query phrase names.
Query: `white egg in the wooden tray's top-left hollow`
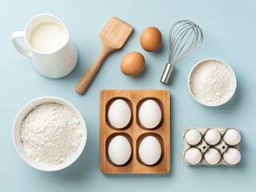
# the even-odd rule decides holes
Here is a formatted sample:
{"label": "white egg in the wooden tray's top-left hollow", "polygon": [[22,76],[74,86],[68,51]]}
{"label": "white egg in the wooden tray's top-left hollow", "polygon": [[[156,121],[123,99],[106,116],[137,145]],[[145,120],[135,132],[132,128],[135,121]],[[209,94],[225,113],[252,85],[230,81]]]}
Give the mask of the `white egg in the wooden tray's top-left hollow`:
{"label": "white egg in the wooden tray's top-left hollow", "polygon": [[112,102],[108,110],[108,120],[116,129],[123,129],[132,117],[131,109],[123,99]]}

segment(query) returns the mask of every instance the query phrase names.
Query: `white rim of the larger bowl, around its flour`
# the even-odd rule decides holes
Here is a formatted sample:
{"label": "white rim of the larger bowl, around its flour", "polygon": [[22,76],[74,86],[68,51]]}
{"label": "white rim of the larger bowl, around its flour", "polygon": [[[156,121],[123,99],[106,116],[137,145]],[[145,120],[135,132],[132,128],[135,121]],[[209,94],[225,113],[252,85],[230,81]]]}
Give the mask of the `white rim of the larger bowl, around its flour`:
{"label": "white rim of the larger bowl, around its flour", "polygon": [[[66,161],[56,164],[56,165],[47,165],[39,162],[35,162],[32,158],[30,158],[24,149],[24,146],[22,144],[21,138],[20,138],[20,132],[21,132],[21,125],[24,118],[26,118],[26,114],[30,112],[35,106],[39,106],[46,102],[54,102],[59,103],[63,106],[67,106],[68,109],[70,109],[77,118],[79,118],[79,121],[81,123],[82,128],[82,140],[80,143],[80,146],[75,151],[75,154],[71,156],[71,158],[68,158]],[[70,102],[67,102],[66,100],[62,98],[55,98],[55,97],[43,97],[43,98],[36,98],[30,102],[28,102],[25,106],[22,107],[22,109],[18,112],[15,120],[14,120],[14,126],[13,126],[13,141],[14,141],[14,147],[18,151],[18,154],[21,156],[21,158],[30,166],[34,167],[37,170],[44,170],[44,171],[55,171],[55,170],[63,170],[67,166],[70,166],[77,158],[79,158],[80,154],[82,154],[83,149],[85,147],[86,141],[87,141],[87,127],[85,125],[85,122],[83,120],[82,114],[79,113],[79,110],[75,108]]]}

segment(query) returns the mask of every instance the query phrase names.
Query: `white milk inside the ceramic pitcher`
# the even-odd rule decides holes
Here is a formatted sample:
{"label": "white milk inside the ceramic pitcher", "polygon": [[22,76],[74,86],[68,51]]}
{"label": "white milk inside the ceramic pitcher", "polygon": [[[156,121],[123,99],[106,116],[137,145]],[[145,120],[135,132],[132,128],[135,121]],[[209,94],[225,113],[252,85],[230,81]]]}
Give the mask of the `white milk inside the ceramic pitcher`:
{"label": "white milk inside the ceramic pitcher", "polygon": [[44,22],[36,26],[30,34],[30,46],[42,53],[59,50],[67,42],[67,33],[62,27],[52,22]]}

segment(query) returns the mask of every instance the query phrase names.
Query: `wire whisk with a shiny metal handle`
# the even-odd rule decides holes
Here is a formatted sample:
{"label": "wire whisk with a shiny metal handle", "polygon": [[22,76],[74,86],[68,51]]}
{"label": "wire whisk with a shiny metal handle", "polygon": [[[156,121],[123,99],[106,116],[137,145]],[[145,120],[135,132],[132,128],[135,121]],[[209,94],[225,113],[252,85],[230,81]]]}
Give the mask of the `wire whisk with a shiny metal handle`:
{"label": "wire whisk with a shiny metal handle", "polygon": [[167,84],[177,63],[191,54],[203,42],[204,34],[199,26],[189,20],[176,22],[169,32],[169,61],[161,82]]}

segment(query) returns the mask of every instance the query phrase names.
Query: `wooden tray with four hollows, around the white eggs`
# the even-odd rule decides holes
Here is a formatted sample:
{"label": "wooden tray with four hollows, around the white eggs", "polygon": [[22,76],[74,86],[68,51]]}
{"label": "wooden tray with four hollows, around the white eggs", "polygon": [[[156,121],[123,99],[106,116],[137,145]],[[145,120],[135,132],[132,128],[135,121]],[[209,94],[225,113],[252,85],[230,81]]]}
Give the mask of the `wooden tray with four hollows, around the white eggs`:
{"label": "wooden tray with four hollows, around the white eggs", "polygon": [[[131,122],[117,130],[108,121],[108,109],[116,99],[128,103],[132,112]],[[138,119],[141,104],[147,100],[156,101],[161,107],[162,118],[153,130],[145,129]],[[108,145],[112,138],[122,135],[132,147],[131,158],[123,166],[117,166],[108,157]],[[152,135],[161,144],[161,158],[152,166],[140,161],[140,142]],[[100,170],[104,174],[166,174],[170,171],[170,93],[169,90],[102,90],[100,93]]]}

